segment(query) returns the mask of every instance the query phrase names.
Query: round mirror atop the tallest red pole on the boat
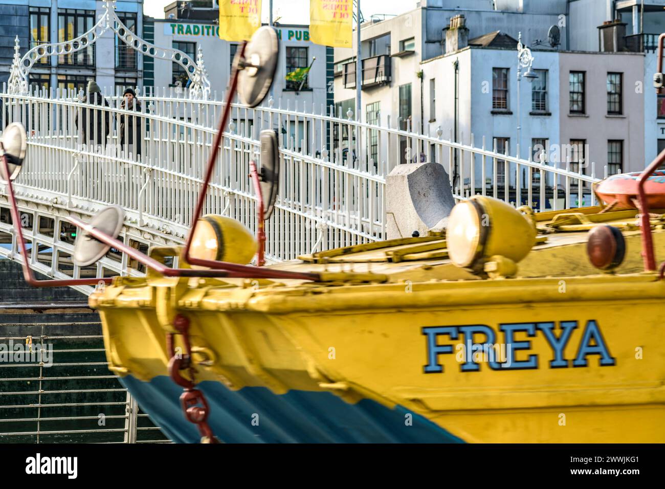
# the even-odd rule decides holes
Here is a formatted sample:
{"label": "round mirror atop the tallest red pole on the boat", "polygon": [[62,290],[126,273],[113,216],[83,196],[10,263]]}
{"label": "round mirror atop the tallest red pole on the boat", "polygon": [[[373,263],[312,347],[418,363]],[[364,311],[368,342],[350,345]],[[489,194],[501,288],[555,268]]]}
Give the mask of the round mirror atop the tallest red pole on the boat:
{"label": "round mirror atop the tallest red pole on the boat", "polygon": [[245,46],[244,66],[238,63],[242,68],[238,75],[238,92],[243,104],[255,107],[263,101],[273,84],[278,53],[277,31],[267,25],[259,27]]}

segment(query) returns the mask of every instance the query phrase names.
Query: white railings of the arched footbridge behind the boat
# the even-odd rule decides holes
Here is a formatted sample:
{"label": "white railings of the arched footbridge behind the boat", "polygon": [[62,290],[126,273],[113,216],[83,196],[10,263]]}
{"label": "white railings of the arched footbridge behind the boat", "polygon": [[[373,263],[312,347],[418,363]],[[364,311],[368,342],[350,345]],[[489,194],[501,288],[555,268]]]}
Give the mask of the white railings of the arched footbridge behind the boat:
{"label": "white railings of the arched footbridge behind the boat", "polygon": [[[82,92],[32,90],[0,92],[0,129],[10,122],[27,128],[25,168],[15,188],[31,242],[31,266],[52,277],[140,275],[142,265],[113,250],[97,265],[80,269],[71,261],[75,228],[63,218],[83,219],[109,204],[126,210],[122,240],[143,249],[182,244],[195,216],[207,157],[223,102],[188,90],[139,94],[132,110],[120,106],[120,93],[104,94],[108,106],[86,100]],[[223,98],[223,97],[221,97]],[[305,111],[307,110],[307,111]],[[76,126],[82,114],[99,121],[108,138],[85,141]],[[318,113],[317,113],[318,112]],[[108,117],[106,116],[108,114]],[[140,154],[123,147],[120,116],[140,128]],[[266,100],[263,106],[233,104],[231,123],[219,152],[205,202],[205,214],[223,214],[255,232],[256,196],[249,162],[259,160],[259,133],[279,134],[280,188],[275,212],[266,224],[266,256],[271,261],[386,236],[386,176],[400,162],[433,161],[444,165],[456,199],[471,194],[501,198],[536,211],[595,204],[591,175],[571,172],[569,163],[541,164],[499,154],[485,140],[469,143],[385,125],[358,123],[329,107],[289,107]],[[393,121],[397,125],[399,121]],[[531,154],[529,148],[527,154]],[[458,168],[458,172],[455,171]],[[603,172],[606,174],[606,170]],[[0,197],[0,253],[21,260],[9,218],[7,188]],[[90,287],[78,287],[89,293]]]}

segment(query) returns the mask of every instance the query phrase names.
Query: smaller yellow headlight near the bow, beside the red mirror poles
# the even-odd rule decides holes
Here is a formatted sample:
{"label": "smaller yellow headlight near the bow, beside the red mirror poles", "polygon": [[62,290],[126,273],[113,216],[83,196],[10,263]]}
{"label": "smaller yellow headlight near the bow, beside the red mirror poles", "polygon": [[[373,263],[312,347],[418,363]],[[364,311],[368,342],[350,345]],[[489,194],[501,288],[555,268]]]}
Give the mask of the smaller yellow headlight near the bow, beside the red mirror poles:
{"label": "smaller yellow headlight near the bow, beside the red mirror poles", "polygon": [[190,256],[245,265],[254,257],[257,247],[245,226],[234,219],[210,214],[196,225]]}

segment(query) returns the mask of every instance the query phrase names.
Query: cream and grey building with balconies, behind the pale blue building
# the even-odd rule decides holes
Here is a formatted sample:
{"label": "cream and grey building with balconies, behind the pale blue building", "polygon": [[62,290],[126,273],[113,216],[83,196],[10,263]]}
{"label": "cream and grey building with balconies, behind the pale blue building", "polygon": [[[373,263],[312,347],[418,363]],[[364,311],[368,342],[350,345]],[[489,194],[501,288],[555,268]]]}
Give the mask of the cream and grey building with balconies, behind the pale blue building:
{"label": "cream and grey building with balconies, behind the pale blue building", "polygon": [[[464,13],[466,19],[467,39],[478,39],[497,31],[517,39],[522,32],[527,45],[538,45],[543,51],[566,47],[565,0],[468,0],[464,8],[458,5],[458,0],[422,0],[418,8],[410,12],[361,25],[362,94],[370,103],[382,99],[384,117],[399,112],[398,101],[388,105],[388,100],[395,97],[386,90],[390,92],[395,86],[412,82],[412,100],[420,100],[421,94],[426,96],[424,84],[421,90],[420,82],[414,83],[416,74],[421,71],[420,64],[458,49],[458,40],[451,35],[450,21],[460,13]],[[548,41],[553,26],[562,33],[555,46]],[[352,48],[334,51],[334,99],[344,102],[344,113],[348,107],[355,108],[348,102],[355,96],[355,35],[353,43]],[[374,73],[377,76],[372,76]],[[364,120],[365,110],[362,112]],[[418,126],[420,120],[424,120],[420,104],[415,104],[410,116],[412,128],[423,127]]]}

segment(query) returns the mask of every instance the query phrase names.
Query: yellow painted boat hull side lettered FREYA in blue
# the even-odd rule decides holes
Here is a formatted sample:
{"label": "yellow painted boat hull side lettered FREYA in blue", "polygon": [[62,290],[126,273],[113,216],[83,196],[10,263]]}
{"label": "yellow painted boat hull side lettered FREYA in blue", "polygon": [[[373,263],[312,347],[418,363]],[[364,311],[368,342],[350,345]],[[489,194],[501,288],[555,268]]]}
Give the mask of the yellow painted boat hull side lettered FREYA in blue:
{"label": "yellow painted boat hull side lettered FREYA in blue", "polygon": [[[141,405],[142,385],[168,381],[164,317],[182,313],[201,385],[244,397],[261,389],[286,404],[289,393],[370,401],[390,414],[378,435],[406,433],[388,439],[437,440],[436,429],[408,438],[410,426],[432,423],[442,441],[665,442],[665,284],[654,274],[309,289],[208,283],[184,289],[170,311],[166,290],[119,279],[91,298],[111,368],[131,379]],[[261,403],[249,410],[260,414]],[[303,422],[311,411],[303,408]],[[325,416],[334,422],[334,412]]]}

